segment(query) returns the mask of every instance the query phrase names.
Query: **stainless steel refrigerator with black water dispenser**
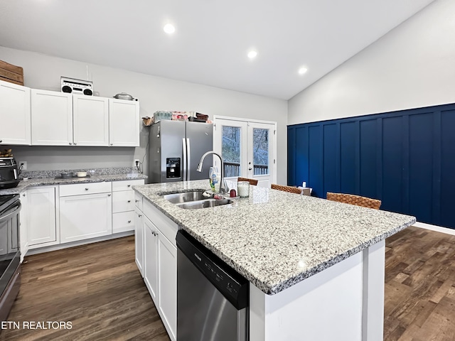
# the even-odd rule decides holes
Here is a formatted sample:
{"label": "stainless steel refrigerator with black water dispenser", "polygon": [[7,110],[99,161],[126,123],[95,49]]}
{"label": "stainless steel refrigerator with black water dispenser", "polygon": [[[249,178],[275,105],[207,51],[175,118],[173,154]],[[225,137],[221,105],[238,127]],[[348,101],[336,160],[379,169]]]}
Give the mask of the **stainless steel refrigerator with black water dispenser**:
{"label": "stainless steel refrigerator with black water dispenser", "polygon": [[213,124],[163,120],[150,127],[149,183],[208,179],[210,163],[196,168],[213,150]]}

